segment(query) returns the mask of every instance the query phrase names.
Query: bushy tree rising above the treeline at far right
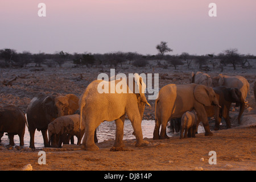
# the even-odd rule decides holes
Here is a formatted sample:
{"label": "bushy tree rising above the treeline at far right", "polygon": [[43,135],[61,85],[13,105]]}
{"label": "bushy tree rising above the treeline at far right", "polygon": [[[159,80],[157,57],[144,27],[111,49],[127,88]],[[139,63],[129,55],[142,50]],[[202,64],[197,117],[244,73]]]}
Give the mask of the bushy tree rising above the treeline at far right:
{"label": "bushy tree rising above the treeline at far right", "polygon": [[237,64],[241,63],[241,56],[238,53],[238,49],[227,49],[224,51],[224,60],[228,64],[232,64],[234,70],[237,69]]}

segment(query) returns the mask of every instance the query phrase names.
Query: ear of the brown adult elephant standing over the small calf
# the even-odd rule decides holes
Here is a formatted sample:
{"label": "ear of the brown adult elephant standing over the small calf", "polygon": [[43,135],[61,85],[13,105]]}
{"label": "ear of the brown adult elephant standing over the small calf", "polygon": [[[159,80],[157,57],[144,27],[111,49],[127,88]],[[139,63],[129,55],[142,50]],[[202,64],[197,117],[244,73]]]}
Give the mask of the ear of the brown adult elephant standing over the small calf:
{"label": "ear of the brown adult elephant standing over the small calf", "polygon": [[197,85],[194,89],[195,99],[204,106],[210,106],[209,90],[204,85]]}

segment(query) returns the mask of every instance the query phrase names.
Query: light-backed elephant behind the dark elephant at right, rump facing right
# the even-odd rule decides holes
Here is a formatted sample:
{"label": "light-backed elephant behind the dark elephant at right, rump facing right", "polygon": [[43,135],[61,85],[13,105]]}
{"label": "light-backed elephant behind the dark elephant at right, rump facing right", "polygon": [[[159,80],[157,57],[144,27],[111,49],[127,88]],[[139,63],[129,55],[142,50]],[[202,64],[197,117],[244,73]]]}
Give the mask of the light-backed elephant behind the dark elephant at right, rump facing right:
{"label": "light-backed elephant behind the dark elephant at right, rump facing right", "polygon": [[226,76],[219,74],[212,78],[212,86],[227,86],[230,88],[238,88],[242,93],[243,100],[246,101],[247,93],[249,94],[250,84],[245,77],[242,76]]}

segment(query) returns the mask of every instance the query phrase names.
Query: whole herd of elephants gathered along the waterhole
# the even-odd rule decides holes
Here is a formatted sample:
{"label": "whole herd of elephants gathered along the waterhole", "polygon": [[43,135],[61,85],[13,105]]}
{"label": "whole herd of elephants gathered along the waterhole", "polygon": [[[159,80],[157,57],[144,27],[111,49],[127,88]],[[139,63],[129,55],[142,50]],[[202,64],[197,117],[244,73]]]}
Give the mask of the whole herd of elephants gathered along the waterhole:
{"label": "whole herd of elephants gathered along the waterhole", "polygon": [[[133,84],[130,84],[130,83]],[[104,83],[108,93],[99,92]],[[128,84],[129,83],[129,84]],[[127,92],[111,92],[112,86],[120,86]],[[106,90],[106,88],[104,88]],[[0,142],[3,133],[7,133],[10,145],[14,145],[14,135],[19,136],[20,146],[24,145],[24,132],[27,125],[30,132],[30,147],[35,148],[35,130],[42,132],[45,147],[61,147],[62,143],[73,143],[77,137],[84,150],[98,150],[96,129],[101,122],[115,121],[116,134],[113,147],[124,147],[123,127],[125,116],[131,121],[137,140],[135,146],[145,146],[142,135],[142,117],[145,105],[150,105],[144,95],[146,84],[137,73],[125,79],[110,81],[95,80],[82,93],[80,99],[74,94],[39,94],[32,98],[27,107],[27,119],[16,106],[0,106]],[[232,103],[240,106],[238,123],[245,110],[245,100],[249,92],[249,83],[242,76],[218,75],[211,78],[206,73],[191,75],[191,84],[168,84],[160,89],[155,100],[155,128],[153,139],[168,138],[167,122],[181,118],[181,135],[195,137],[197,127],[203,123],[205,135],[213,135],[209,129],[208,117],[215,117],[214,130],[218,130],[222,117],[227,128],[231,127],[229,109]],[[256,94],[256,84],[254,84]],[[161,126],[161,130],[160,130]],[[48,130],[48,136],[47,136]],[[188,133],[188,135],[187,135]],[[82,139],[83,137],[83,139]]]}

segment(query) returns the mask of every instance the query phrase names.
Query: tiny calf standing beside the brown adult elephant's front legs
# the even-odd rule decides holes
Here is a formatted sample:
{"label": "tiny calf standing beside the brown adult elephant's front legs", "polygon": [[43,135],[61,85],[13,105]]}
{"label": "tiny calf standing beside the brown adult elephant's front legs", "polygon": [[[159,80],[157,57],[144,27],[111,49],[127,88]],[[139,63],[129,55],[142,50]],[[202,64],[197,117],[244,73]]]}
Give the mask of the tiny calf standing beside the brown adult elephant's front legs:
{"label": "tiny calf standing beside the brown adult elephant's front legs", "polygon": [[180,126],[180,139],[183,139],[183,131],[185,129],[184,138],[196,137],[196,124],[197,115],[196,111],[187,111],[182,115],[181,126]]}

